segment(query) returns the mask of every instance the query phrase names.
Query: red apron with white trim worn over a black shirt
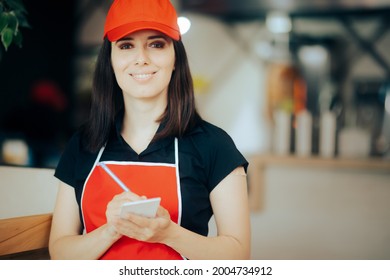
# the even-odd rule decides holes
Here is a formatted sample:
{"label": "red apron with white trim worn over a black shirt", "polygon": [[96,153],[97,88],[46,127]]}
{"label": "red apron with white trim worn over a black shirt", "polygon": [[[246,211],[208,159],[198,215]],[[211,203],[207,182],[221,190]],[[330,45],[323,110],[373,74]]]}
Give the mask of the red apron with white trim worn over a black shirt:
{"label": "red apron with white trim worn over a black shirt", "polygon": [[[100,150],[92,170],[85,181],[81,210],[85,232],[89,233],[107,222],[106,207],[112,198],[123,190],[97,163],[103,154]],[[180,224],[181,199],[178,169],[178,140],[175,139],[175,164],[106,161],[105,164],[134,193],[147,198],[161,197],[172,221]],[[126,236],[115,242],[101,259],[168,259],[183,257],[172,248],[160,243],[138,241]]]}

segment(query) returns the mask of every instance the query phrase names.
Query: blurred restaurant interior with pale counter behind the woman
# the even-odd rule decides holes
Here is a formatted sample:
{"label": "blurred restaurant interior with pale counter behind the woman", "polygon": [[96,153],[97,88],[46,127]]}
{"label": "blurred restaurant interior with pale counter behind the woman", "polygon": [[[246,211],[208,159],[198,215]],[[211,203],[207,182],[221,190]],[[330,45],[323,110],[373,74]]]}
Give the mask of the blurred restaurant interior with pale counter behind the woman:
{"label": "blurred restaurant interior with pale counter behind the woman", "polygon": [[[250,161],[253,258],[390,258],[389,0],[172,0],[198,109]],[[25,1],[1,165],[55,168],[111,1]],[[333,230],[331,230],[333,229]]]}

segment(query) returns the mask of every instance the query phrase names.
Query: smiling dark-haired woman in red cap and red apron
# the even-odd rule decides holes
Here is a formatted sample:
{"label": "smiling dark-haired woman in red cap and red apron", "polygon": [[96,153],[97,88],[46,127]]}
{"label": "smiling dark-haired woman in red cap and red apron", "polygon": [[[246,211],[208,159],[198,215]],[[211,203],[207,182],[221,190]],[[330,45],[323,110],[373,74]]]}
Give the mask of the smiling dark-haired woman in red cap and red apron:
{"label": "smiling dark-haired woman in red cap and red apron", "polygon": [[[105,163],[129,188],[123,192]],[[105,23],[90,119],[70,140],[49,250],[53,259],[247,259],[247,161],[196,112],[169,0],[117,0]],[[156,217],[120,217],[161,197]],[[218,235],[208,237],[214,214]]]}

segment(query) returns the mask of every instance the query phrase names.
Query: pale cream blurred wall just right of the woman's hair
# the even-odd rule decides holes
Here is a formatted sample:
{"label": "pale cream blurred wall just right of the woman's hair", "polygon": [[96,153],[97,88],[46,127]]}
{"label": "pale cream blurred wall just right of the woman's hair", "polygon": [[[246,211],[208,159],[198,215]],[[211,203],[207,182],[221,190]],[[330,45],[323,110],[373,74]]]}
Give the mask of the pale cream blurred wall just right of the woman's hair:
{"label": "pale cream blurred wall just right of the woman's hair", "polygon": [[264,62],[250,48],[259,22],[227,26],[198,14],[185,14],[191,29],[183,35],[200,114],[225,129],[244,154],[268,149],[264,118]]}

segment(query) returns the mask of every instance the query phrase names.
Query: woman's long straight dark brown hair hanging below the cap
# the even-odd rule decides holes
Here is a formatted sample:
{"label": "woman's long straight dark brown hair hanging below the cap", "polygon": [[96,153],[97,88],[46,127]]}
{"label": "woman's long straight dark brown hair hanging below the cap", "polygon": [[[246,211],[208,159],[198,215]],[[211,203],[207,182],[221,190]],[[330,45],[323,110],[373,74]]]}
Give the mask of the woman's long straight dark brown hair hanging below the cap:
{"label": "woman's long straight dark brown hair hanging below the cap", "polygon": [[[165,124],[153,139],[181,137],[200,120],[195,107],[192,76],[181,40],[173,41],[175,70],[168,85],[168,105],[157,121]],[[108,140],[117,114],[124,108],[120,89],[111,65],[111,42],[104,39],[92,85],[89,119],[82,128],[83,142],[90,152],[97,152]]]}

